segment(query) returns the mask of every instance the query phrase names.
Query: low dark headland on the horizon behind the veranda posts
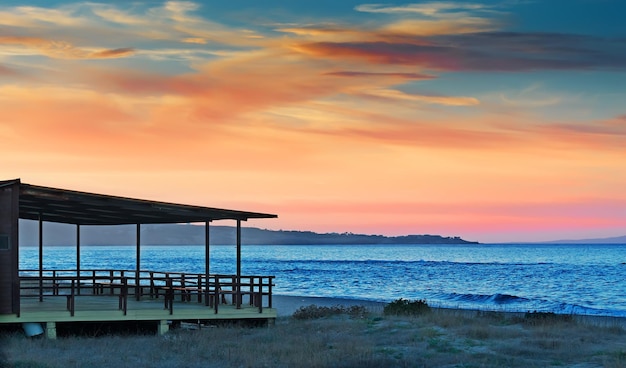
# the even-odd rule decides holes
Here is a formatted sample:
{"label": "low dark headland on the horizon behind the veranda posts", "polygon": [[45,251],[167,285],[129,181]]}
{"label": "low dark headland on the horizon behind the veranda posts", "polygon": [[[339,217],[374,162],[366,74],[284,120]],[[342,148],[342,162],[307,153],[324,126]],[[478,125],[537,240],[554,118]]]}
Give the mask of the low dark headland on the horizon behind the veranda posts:
{"label": "low dark headland on the horizon behind the veranda posts", "polygon": [[[81,245],[128,245],[136,239],[135,226],[81,228]],[[44,244],[50,246],[76,244],[76,229],[64,224],[46,223]],[[236,230],[232,226],[211,226],[210,244],[235,244]],[[244,245],[351,245],[351,244],[479,244],[460,237],[441,235],[384,236],[353,233],[315,233],[312,231],[266,230],[242,227]],[[200,245],[205,242],[204,226],[142,225],[141,243],[150,245]],[[20,244],[38,244],[37,223],[20,223]]]}

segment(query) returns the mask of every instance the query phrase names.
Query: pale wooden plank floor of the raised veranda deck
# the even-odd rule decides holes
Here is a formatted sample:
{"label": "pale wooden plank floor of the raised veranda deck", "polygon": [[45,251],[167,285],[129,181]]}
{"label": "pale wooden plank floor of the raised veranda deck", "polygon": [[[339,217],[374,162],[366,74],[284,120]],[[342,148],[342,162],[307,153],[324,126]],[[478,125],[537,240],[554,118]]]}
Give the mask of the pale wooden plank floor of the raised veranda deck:
{"label": "pale wooden plank floor of the raised veranda deck", "polygon": [[170,314],[164,308],[163,298],[148,297],[137,301],[128,297],[127,312],[124,315],[118,309],[119,298],[111,296],[80,295],[75,297],[74,316],[67,310],[67,299],[64,296],[44,296],[42,302],[38,297],[22,297],[20,317],[17,315],[0,315],[1,323],[25,322],[105,322],[105,321],[162,321],[162,320],[219,320],[219,319],[273,319],[276,318],[275,308],[259,308],[244,304],[237,309],[231,304],[220,304],[218,313],[203,303],[174,302]]}

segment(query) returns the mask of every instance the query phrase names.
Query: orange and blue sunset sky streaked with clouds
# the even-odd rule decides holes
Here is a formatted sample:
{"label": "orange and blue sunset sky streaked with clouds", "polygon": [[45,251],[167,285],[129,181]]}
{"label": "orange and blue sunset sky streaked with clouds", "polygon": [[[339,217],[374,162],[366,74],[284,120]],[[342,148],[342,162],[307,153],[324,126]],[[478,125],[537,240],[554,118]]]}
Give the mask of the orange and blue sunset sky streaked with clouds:
{"label": "orange and blue sunset sky streaked with clouds", "polygon": [[268,229],[626,235],[624,14],[2,0],[0,180],[278,214],[244,224]]}

